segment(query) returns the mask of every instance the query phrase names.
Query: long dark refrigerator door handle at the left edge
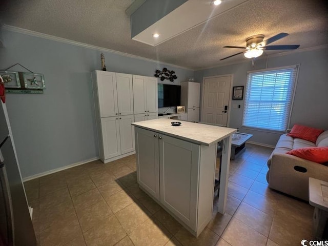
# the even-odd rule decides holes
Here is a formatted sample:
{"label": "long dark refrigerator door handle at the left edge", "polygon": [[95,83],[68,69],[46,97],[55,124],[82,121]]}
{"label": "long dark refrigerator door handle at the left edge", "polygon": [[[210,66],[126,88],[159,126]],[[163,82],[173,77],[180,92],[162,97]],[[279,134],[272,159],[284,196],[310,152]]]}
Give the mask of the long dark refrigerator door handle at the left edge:
{"label": "long dark refrigerator door handle at the left edge", "polygon": [[[0,151],[0,157],[2,153]],[[1,158],[3,160],[3,158]],[[6,167],[4,162],[0,161],[0,182],[3,188],[3,195],[5,199],[5,209],[6,209],[6,219],[7,219],[7,228],[8,228],[8,245],[12,246],[14,244],[14,216],[12,210],[11,195],[9,189],[9,181],[7,177]]]}

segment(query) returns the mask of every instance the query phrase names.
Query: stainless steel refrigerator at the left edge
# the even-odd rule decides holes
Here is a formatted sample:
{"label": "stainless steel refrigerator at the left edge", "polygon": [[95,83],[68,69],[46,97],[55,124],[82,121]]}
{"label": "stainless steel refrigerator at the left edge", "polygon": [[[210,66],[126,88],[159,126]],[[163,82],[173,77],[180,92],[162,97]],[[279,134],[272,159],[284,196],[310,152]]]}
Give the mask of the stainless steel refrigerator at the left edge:
{"label": "stainless steel refrigerator at the left edge", "polygon": [[2,245],[34,246],[36,238],[6,105],[0,101],[0,246]]}

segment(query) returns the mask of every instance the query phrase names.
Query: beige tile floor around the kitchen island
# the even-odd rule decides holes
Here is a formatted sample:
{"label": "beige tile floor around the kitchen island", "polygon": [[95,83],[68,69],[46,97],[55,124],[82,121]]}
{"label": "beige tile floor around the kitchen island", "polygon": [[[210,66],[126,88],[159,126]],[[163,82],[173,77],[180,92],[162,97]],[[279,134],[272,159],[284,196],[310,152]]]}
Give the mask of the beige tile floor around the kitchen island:
{"label": "beige tile floor around the kitchen island", "polygon": [[312,237],[313,207],[268,188],[272,149],[247,145],[231,161],[227,212],[194,238],[136,179],[135,155],[93,161],[25,183],[40,246],[300,245]]}

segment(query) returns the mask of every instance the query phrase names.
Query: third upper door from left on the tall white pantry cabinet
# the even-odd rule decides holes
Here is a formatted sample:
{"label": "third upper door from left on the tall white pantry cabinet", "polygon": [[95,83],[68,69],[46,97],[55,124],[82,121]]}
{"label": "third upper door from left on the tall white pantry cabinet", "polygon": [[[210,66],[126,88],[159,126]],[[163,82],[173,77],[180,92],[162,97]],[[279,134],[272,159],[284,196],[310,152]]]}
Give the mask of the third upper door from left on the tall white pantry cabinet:
{"label": "third upper door from left on the tall white pantry cabinet", "polygon": [[144,76],[132,75],[133,80],[133,105],[134,113],[147,112],[146,105],[146,81]]}

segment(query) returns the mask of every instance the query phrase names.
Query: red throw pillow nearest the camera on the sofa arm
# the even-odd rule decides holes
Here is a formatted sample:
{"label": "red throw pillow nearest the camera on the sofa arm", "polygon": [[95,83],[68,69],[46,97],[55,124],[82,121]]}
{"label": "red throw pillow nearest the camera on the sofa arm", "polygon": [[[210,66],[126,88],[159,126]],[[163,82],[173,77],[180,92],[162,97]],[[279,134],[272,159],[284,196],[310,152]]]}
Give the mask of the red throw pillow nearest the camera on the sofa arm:
{"label": "red throw pillow nearest the camera on the sofa arm", "polygon": [[288,151],[286,154],[321,164],[328,161],[328,147],[306,147]]}

